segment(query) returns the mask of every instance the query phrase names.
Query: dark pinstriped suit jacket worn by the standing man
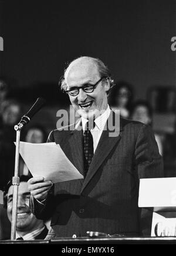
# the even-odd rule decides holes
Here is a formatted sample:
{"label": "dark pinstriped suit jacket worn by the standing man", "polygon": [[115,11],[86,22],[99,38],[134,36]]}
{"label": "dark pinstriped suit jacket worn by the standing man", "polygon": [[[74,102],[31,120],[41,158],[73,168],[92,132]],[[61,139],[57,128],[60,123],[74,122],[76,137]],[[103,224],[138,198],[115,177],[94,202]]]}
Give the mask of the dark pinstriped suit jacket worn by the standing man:
{"label": "dark pinstriped suit jacket worn by the standing man", "polygon": [[[109,132],[101,134],[85,179],[56,183],[45,205],[32,198],[37,218],[52,216],[56,237],[85,236],[86,231],[150,235],[151,214],[138,208],[138,186],[140,178],[163,176],[154,134],[150,126],[125,119],[120,119],[119,136],[110,137]],[[54,130],[48,141],[59,143],[83,173],[81,130]]]}

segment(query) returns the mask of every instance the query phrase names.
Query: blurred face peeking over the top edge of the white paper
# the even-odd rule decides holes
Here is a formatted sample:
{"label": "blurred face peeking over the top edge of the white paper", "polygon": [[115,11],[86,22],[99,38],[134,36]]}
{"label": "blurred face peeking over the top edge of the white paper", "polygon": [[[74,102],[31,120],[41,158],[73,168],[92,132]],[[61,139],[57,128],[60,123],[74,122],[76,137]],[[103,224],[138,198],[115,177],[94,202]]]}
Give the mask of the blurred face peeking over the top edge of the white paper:
{"label": "blurred face peeking over the top edge of the white paper", "polygon": [[30,143],[43,143],[44,142],[44,135],[42,130],[38,128],[32,128],[28,130],[26,134],[26,142]]}

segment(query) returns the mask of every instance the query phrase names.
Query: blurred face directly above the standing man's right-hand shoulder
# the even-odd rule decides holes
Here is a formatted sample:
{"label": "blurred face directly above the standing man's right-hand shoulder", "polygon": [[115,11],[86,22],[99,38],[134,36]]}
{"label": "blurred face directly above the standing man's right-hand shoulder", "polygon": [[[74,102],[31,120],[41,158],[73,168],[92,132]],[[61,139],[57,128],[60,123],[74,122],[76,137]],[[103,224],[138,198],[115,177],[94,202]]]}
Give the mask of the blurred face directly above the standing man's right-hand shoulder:
{"label": "blurred face directly above the standing man's right-hand shoulder", "polygon": [[151,123],[151,117],[148,113],[148,109],[146,106],[137,106],[132,114],[131,117],[133,120],[145,123],[145,124],[150,124]]}

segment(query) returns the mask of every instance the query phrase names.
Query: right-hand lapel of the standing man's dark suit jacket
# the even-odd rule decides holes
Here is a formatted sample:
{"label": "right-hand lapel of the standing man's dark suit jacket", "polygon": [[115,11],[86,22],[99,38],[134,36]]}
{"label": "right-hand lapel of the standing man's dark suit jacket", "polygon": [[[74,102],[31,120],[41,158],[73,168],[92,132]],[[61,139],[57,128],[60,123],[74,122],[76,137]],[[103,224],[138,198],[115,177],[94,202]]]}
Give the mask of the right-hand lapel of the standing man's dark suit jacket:
{"label": "right-hand lapel of the standing man's dark suit jacket", "polygon": [[[113,111],[111,111],[108,122],[110,121],[111,118],[112,118],[112,120],[115,120],[115,113]],[[89,171],[87,172],[87,176],[84,180],[81,193],[83,192],[83,190],[87,186],[87,184],[90,182],[90,179],[93,178],[94,174],[97,172],[97,170],[99,169],[101,164],[104,162],[106,157],[109,155],[109,153],[111,152],[113,147],[120,140],[120,131],[123,130],[123,126],[122,126],[121,122],[119,123],[119,129],[117,132],[118,133],[117,136],[111,137],[110,133],[112,133],[113,131],[109,128],[110,128],[110,126],[107,125],[107,129],[103,130],[103,132],[101,134],[101,137],[100,137],[99,143],[97,145],[96,151],[94,153]]]}

